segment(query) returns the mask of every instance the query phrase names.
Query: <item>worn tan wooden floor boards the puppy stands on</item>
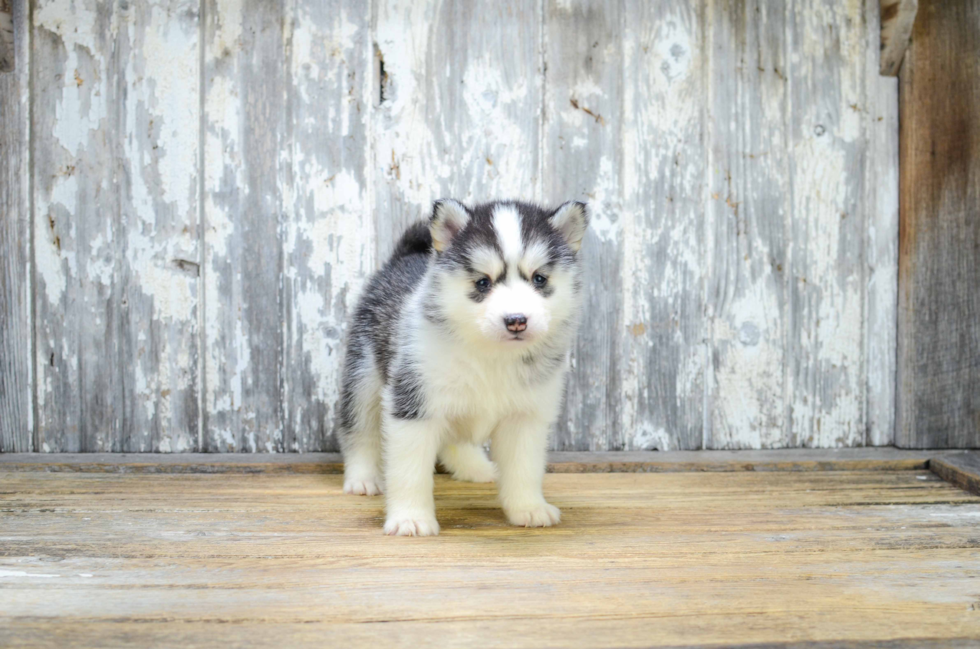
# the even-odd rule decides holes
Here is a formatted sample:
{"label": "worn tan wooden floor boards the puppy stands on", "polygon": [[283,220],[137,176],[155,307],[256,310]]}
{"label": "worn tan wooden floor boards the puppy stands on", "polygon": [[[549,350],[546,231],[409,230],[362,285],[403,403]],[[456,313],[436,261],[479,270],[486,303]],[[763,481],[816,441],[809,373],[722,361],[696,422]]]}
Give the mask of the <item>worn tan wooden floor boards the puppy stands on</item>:
{"label": "worn tan wooden floor boards the puppy stands on", "polygon": [[436,485],[413,539],[339,475],[0,471],[0,646],[980,646],[980,498],[928,470],[549,474],[539,530]]}

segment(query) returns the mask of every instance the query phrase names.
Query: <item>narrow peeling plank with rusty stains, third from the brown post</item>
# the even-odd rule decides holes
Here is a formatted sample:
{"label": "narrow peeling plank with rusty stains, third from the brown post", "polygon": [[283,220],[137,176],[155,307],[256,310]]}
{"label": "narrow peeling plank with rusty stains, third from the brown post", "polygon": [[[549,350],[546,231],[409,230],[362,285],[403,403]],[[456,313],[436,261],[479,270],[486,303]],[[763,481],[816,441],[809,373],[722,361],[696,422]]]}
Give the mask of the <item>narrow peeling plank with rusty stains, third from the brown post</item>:
{"label": "narrow peeling plank with rusty stains, third from the brown post", "polygon": [[709,2],[708,448],[785,437],[791,53],[783,3]]}

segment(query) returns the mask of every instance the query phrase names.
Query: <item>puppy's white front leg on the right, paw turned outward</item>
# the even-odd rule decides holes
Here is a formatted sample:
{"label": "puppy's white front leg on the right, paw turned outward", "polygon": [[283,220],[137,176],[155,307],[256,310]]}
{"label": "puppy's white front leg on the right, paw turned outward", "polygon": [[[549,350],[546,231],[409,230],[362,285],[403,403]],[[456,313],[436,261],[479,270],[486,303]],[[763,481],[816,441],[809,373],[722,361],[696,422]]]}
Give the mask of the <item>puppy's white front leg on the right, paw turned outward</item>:
{"label": "puppy's white front leg on the right, paw turned outward", "polygon": [[547,527],[561,520],[541,490],[547,445],[548,423],[535,417],[507,418],[493,433],[490,453],[500,472],[500,504],[511,525]]}

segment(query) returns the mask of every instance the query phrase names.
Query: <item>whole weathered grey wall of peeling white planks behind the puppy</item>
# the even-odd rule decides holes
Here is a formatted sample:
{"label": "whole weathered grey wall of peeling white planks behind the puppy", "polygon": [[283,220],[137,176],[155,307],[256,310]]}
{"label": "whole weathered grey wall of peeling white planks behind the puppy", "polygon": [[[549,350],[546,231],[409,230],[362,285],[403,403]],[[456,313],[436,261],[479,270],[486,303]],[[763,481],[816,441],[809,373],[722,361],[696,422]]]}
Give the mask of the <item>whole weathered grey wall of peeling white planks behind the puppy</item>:
{"label": "whole weathered grey wall of peeling white planks behind the puppy", "polygon": [[878,5],[34,0],[2,450],[335,449],[347,314],[443,196],[592,206],[556,448],[890,443]]}

